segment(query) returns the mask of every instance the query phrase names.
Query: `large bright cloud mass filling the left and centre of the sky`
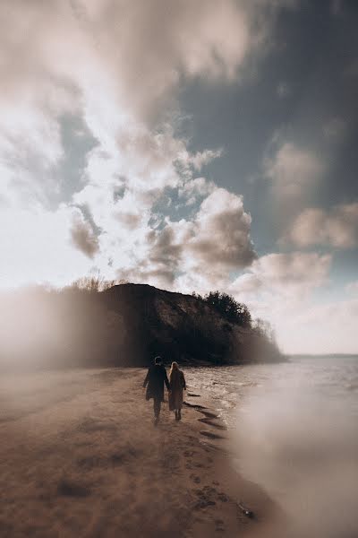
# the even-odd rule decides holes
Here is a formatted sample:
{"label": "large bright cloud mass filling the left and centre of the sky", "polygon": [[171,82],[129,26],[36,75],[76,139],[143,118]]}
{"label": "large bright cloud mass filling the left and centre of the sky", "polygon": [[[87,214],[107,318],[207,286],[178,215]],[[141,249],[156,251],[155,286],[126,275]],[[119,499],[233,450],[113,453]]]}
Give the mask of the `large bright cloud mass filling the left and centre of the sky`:
{"label": "large bright cloud mass filling the left and centre of the sky", "polygon": [[[19,267],[28,264],[25,227],[31,222],[43,244],[46,218],[53,244],[63,245],[66,258],[72,252],[68,279],[96,269],[180,287],[200,271],[208,286],[250,265],[251,217],[242,198],[203,174],[222,150],[189,152],[175,131],[175,95],[195,77],[240,77],[268,33],[262,10],[271,15],[276,7],[234,0],[2,3],[0,203],[23,230],[11,247]],[[80,117],[94,141],[65,203],[58,177],[64,116]],[[38,279],[65,280],[65,272],[58,279],[37,259]],[[4,272],[10,275],[6,264]]]}

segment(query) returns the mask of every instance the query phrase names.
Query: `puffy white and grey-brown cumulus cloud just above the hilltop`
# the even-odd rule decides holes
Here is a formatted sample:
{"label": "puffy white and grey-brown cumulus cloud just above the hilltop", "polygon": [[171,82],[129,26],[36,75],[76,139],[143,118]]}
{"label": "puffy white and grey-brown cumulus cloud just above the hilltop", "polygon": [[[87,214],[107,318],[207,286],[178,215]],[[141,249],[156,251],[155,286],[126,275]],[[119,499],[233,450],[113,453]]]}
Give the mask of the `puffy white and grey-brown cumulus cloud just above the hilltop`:
{"label": "puffy white and grey-brown cumulus cloud just above the hilltop", "polygon": [[118,276],[131,274],[136,282],[155,279],[157,285],[181,291],[209,291],[255,259],[250,228],[242,197],[216,187],[191,220],[166,218],[158,229],[147,225],[141,230],[135,260]]}

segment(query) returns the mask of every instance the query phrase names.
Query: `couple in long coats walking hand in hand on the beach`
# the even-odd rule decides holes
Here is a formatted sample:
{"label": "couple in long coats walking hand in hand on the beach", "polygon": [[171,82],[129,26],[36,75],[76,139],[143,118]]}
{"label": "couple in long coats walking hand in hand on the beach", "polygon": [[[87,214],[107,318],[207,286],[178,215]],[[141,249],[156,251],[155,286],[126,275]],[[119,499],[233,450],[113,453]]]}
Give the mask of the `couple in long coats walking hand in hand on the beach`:
{"label": "couple in long coats walking hand in hand on the beach", "polygon": [[168,390],[169,411],[175,412],[175,421],[182,418],[183,390],[186,390],[185,378],[177,362],[172,362],[169,379],[166,369],[162,364],[161,357],[154,359],[154,364],[149,367],[143,386],[147,387],[146,400],[153,398],[154,423],[157,425],[161,403],[164,402],[164,385]]}

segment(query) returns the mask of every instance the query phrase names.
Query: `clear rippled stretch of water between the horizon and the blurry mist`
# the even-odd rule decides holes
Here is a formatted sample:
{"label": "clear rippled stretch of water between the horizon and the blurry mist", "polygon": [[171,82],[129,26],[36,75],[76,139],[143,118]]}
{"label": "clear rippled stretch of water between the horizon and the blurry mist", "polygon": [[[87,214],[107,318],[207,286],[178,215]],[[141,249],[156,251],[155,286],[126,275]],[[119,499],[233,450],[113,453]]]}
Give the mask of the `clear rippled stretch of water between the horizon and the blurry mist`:
{"label": "clear rippled stretch of water between the horizon and the blurry mist", "polygon": [[237,413],[247,412],[252,399],[292,391],[315,395],[322,404],[343,404],[345,412],[358,413],[358,357],[292,357],[286,363],[186,369],[189,391],[207,398],[233,427]]}

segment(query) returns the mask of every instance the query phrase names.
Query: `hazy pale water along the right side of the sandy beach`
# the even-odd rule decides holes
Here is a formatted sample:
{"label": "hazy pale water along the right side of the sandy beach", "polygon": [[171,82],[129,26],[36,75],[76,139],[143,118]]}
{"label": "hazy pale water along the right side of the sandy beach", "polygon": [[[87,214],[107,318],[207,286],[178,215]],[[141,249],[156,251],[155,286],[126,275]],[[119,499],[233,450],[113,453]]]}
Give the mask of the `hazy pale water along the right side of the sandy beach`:
{"label": "hazy pale water along the right side of the sandy beach", "polygon": [[226,422],[240,473],[284,508],[290,537],[358,537],[357,357],[188,369],[186,377]]}

